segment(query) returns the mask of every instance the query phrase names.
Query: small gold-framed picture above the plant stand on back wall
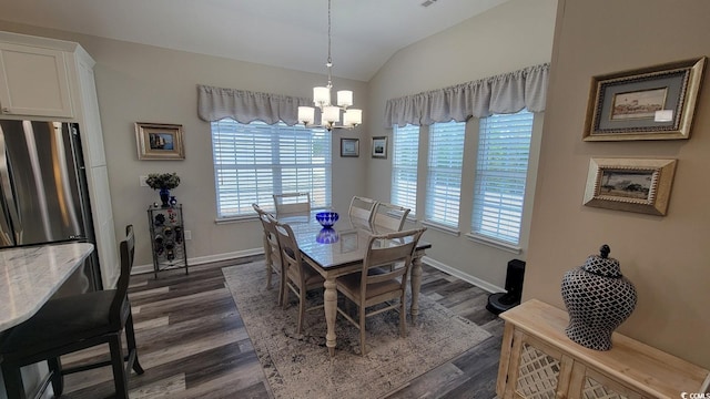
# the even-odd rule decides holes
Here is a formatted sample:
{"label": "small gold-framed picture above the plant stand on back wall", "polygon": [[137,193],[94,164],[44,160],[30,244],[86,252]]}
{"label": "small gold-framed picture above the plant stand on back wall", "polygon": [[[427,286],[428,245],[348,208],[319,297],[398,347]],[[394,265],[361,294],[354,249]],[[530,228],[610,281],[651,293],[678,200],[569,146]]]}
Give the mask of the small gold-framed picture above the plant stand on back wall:
{"label": "small gold-framed picture above the plant stand on back wall", "polygon": [[135,123],[139,160],[184,160],[182,125],[166,123]]}

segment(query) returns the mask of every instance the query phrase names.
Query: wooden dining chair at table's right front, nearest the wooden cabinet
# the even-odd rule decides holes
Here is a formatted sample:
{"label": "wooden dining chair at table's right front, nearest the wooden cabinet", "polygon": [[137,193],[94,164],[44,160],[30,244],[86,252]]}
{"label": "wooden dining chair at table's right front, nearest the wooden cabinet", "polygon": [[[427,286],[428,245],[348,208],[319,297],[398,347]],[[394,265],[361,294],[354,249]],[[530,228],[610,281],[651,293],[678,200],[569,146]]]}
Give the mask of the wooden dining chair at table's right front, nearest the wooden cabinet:
{"label": "wooden dining chair at table's right front, nearest the wooden cabinet", "polygon": [[[367,253],[361,273],[337,278],[337,291],[357,305],[357,319],[341,306],[337,313],[359,329],[361,355],[365,356],[365,319],[390,309],[399,311],[399,335],[406,336],[406,287],[407,275],[417,243],[426,227],[404,232],[373,235],[367,243]],[[383,265],[395,265],[393,269]],[[393,301],[398,299],[397,301]],[[387,303],[372,311],[374,305]]]}

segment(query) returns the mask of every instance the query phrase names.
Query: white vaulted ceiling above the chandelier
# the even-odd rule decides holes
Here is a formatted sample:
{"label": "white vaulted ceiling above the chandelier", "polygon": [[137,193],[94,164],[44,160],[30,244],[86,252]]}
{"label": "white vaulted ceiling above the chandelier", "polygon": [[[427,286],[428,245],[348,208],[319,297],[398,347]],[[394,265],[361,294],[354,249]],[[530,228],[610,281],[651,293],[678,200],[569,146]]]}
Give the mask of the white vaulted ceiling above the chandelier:
{"label": "white vaulted ceiling above the chandelier", "polygon": [[[332,1],[333,74],[368,81],[397,50],[508,0]],[[326,70],[327,0],[0,0],[0,10],[11,22]]]}

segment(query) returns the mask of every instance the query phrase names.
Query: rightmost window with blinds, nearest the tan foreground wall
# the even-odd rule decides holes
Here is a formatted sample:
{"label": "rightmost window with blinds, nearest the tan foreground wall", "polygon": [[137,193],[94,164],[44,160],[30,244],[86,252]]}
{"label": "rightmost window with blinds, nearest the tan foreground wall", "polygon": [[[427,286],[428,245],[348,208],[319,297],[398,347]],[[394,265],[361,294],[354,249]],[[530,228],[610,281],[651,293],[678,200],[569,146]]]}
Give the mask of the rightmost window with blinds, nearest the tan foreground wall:
{"label": "rightmost window with blinds, nearest the tan foreground wall", "polygon": [[480,120],[474,234],[519,244],[531,135],[532,113],[526,110]]}

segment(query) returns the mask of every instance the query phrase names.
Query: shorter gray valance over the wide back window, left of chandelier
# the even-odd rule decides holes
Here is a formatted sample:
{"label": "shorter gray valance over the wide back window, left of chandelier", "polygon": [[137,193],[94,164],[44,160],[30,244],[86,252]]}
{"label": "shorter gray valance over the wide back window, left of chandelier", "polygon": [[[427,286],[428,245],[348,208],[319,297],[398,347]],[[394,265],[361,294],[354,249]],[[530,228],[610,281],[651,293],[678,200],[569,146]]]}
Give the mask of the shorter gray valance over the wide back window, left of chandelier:
{"label": "shorter gray valance over the wide back window, left of chandelier", "polygon": [[213,122],[231,117],[240,123],[283,121],[298,123],[298,106],[313,106],[313,99],[197,85],[197,115]]}

